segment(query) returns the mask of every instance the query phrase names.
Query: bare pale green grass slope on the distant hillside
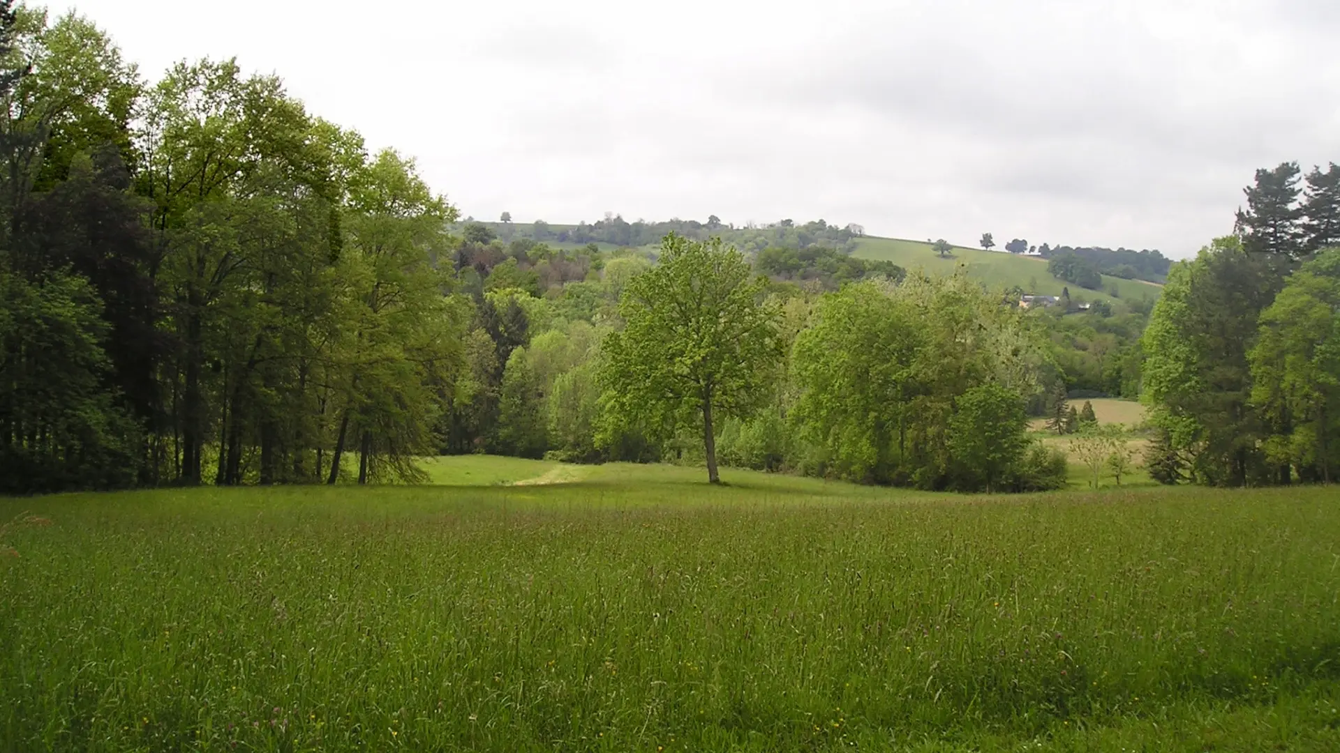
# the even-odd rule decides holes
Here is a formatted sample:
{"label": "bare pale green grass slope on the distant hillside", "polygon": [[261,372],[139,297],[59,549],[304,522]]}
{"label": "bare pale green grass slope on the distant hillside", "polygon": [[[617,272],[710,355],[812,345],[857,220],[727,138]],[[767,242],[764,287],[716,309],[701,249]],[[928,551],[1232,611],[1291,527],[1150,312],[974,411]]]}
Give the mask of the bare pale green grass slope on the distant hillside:
{"label": "bare pale green grass slope on the distant hillside", "polygon": [[[1025,292],[1038,295],[1061,295],[1061,288],[1068,283],[1057,280],[1047,272],[1047,261],[1037,257],[1016,256],[1000,251],[982,251],[980,248],[954,247],[950,257],[941,259],[930,244],[922,241],[909,241],[899,238],[866,237],[856,241],[854,253],[862,259],[888,260],[904,269],[923,269],[930,275],[950,275],[959,264],[967,267],[967,273],[988,285],[996,288],[1012,288],[1018,285]],[[1087,291],[1079,285],[1069,285],[1071,296],[1085,300],[1112,300],[1108,288],[1116,285],[1118,299],[1135,300],[1158,297],[1162,285],[1142,280],[1122,280],[1120,277],[1103,276],[1101,291]]]}

